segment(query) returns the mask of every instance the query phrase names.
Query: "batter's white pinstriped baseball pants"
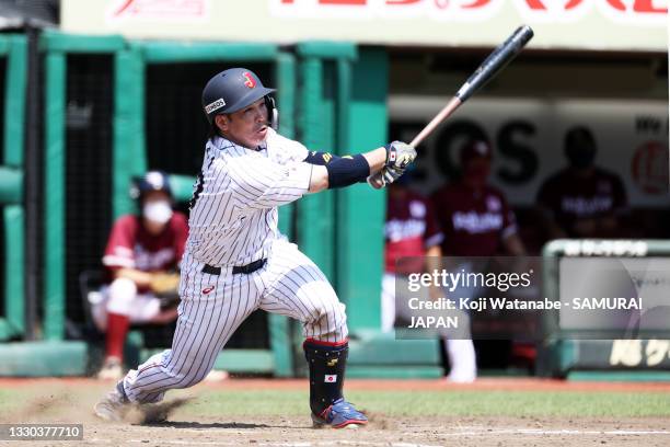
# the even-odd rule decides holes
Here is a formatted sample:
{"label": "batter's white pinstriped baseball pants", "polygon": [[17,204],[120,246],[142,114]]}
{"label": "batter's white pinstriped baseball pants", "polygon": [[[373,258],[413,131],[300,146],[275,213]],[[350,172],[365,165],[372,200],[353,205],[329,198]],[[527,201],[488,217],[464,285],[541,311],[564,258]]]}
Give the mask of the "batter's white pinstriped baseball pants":
{"label": "batter's white pinstriped baseball pants", "polygon": [[233,332],[254,310],[292,317],[303,334],[325,342],[347,337],[345,306],[324,274],[297,245],[275,240],[267,263],[251,274],[203,273],[187,252],[182,261],[178,320],[172,348],[150,357],[124,378],[128,399],[160,401],[165,391],[201,381]]}

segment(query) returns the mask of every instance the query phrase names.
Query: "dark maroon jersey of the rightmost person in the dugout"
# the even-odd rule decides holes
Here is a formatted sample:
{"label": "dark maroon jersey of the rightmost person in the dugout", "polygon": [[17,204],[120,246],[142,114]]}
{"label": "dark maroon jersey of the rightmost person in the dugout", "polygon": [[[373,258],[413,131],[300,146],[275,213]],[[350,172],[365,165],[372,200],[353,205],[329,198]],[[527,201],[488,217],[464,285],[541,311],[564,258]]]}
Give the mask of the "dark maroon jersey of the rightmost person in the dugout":
{"label": "dark maroon jersey of the rightmost person in the dugout", "polygon": [[577,220],[619,213],[627,200],[617,175],[593,168],[588,177],[569,169],[552,175],[540,187],[538,202],[553,213],[556,224],[569,236],[578,236],[573,230]]}

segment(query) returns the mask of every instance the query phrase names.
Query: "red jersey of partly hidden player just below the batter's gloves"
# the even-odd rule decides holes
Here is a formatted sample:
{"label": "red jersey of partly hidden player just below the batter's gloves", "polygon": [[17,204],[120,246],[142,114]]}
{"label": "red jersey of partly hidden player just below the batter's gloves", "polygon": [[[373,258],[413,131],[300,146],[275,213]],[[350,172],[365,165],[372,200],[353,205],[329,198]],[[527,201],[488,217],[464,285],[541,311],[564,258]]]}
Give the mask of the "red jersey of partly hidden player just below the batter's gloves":
{"label": "red jersey of partly hidden player just below the batter's gloves", "polygon": [[409,190],[398,196],[389,194],[384,234],[384,264],[389,273],[395,272],[397,259],[423,256],[444,239],[432,204]]}

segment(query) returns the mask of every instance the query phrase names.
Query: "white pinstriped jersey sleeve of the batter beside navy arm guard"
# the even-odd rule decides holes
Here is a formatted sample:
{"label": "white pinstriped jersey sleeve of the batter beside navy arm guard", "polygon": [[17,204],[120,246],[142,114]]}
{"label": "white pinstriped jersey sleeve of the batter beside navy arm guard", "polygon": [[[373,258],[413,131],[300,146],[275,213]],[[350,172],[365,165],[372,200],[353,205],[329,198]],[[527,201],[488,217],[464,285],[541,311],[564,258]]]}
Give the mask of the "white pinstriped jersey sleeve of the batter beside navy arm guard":
{"label": "white pinstriped jersey sleeve of the batter beside navy arm guard", "polygon": [[309,192],[312,177],[311,164],[279,164],[264,157],[231,160],[229,169],[235,198],[243,208],[273,208],[294,202]]}

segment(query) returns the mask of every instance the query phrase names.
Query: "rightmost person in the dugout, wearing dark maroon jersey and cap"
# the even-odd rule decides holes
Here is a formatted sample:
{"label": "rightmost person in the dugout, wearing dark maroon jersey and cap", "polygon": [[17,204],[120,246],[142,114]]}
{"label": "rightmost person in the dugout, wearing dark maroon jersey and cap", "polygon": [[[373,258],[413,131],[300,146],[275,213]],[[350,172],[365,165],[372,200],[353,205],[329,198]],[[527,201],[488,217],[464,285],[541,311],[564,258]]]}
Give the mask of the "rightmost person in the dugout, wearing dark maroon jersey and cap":
{"label": "rightmost person in the dugout, wearing dark maroon jersey and cap", "polygon": [[621,179],[594,164],[596,138],[577,126],[565,135],[568,165],[540,187],[538,204],[550,239],[620,237],[627,206]]}

